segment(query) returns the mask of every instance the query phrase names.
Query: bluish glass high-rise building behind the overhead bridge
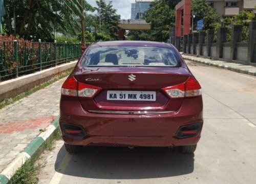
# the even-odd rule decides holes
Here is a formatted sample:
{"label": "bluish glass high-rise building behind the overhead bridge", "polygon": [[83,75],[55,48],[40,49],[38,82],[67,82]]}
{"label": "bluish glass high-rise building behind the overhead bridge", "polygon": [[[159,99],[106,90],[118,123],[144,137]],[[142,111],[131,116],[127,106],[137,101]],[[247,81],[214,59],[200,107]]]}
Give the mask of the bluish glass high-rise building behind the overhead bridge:
{"label": "bluish glass high-rise building behind the overhead bridge", "polygon": [[136,0],[132,3],[131,19],[144,19],[146,10],[154,0]]}

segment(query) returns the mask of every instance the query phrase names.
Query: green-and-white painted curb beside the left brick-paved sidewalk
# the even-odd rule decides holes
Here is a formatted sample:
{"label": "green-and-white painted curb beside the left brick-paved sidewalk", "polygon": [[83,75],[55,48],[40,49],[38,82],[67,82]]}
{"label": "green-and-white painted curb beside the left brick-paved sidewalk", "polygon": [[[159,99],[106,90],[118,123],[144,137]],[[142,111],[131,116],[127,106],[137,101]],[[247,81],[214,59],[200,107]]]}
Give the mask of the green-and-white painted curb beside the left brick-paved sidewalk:
{"label": "green-and-white painted curb beside the left brick-paved sidewalk", "polygon": [[33,156],[36,151],[46,142],[46,140],[53,135],[54,131],[59,127],[59,117],[57,117],[47,128],[46,131],[41,132],[34,140],[32,140],[23,152],[20,152],[12,162],[0,174],[0,184],[7,184],[18,168]]}

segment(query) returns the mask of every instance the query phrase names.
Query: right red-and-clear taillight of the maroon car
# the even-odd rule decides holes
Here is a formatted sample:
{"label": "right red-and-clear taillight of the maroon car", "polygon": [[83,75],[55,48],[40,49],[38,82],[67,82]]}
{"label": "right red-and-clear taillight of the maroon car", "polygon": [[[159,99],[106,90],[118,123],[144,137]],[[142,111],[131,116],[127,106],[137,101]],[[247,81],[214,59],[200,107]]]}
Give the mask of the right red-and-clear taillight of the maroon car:
{"label": "right red-and-clear taillight of the maroon car", "polygon": [[163,88],[170,98],[196,97],[202,95],[201,86],[194,78],[188,78],[186,82]]}

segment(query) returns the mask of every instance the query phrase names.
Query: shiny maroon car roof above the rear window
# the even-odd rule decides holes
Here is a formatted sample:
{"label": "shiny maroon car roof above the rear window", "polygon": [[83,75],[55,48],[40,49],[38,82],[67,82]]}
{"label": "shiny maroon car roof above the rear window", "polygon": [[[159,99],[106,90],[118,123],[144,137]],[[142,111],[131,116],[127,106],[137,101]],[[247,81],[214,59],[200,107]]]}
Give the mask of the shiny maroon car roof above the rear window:
{"label": "shiny maroon car roof above the rear window", "polygon": [[172,45],[164,42],[157,41],[99,41],[93,43],[90,47],[108,47],[108,46],[150,46],[150,47],[162,47],[171,48]]}

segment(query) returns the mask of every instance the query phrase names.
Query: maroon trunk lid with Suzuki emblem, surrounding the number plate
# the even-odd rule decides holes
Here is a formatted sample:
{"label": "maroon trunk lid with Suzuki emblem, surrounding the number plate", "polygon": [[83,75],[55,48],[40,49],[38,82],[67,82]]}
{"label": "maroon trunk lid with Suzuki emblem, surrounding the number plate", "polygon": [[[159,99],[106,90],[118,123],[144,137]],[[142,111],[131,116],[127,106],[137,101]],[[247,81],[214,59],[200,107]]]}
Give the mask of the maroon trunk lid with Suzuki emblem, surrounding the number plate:
{"label": "maroon trunk lid with Suzuki emblem, surrounding the number plate", "polygon": [[[183,98],[170,99],[162,90],[167,86],[183,83],[189,72],[183,67],[93,67],[83,68],[75,78],[101,90],[93,98],[79,97],[84,110],[91,112],[170,112],[180,108]],[[109,93],[108,93],[109,91]],[[110,93],[111,92],[111,93]],[[110,94],[137,94],[137,99],[108,99]],[[143,99],[140,94],[152,95],[154,99]]]}

